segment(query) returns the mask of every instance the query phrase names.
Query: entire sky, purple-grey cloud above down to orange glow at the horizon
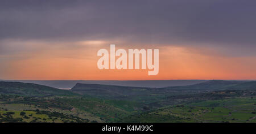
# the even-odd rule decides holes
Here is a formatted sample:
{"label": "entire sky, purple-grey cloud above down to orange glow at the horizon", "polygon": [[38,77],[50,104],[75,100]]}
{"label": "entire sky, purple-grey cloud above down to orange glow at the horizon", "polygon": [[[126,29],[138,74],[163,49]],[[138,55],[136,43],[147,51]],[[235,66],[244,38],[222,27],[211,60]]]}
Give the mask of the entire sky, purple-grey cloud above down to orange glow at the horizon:
{"label": "entire sky, purple-grey cloud above down to orange glow at the horizon", "polygon": [[[0,2],[0,79],[256,79],[252,0]],[[159,49],[159,74],[99,70],[97,51]]]}

